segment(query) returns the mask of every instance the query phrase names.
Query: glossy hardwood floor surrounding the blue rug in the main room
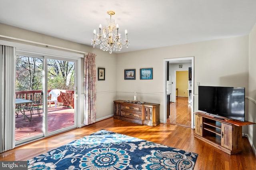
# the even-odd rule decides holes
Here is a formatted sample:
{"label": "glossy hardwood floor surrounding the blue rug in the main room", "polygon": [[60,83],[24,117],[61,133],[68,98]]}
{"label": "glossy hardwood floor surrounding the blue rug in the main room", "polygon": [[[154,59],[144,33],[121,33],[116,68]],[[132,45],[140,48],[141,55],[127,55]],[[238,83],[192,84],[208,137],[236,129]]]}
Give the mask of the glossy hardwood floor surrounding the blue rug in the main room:
{"label": "glossy hardwood floor surrounding the blue rug in the main room", "polygon": [[160,124],[156,127],[138,125],[108,118],[92,125],[57,134],[0,153],[0,160],[28,160],[73,140],[105,129],[198,154],[194,170],[254,170],[256,156],[247,138],[242,138],[242,153],[229,155],[194,137],[188,127]]}

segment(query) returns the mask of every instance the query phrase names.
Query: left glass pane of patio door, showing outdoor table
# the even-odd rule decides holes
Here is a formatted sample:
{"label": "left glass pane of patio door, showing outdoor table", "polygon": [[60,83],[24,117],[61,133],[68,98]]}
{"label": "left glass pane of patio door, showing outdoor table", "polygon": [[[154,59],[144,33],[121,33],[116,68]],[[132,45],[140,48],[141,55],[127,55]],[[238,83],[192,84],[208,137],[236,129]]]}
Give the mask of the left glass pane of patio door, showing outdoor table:
{"label": "left glass pane of patio door, showing outdoor table", "polygon": [[42,62],[42,58],[16,56],[16,141],[43,133]]}

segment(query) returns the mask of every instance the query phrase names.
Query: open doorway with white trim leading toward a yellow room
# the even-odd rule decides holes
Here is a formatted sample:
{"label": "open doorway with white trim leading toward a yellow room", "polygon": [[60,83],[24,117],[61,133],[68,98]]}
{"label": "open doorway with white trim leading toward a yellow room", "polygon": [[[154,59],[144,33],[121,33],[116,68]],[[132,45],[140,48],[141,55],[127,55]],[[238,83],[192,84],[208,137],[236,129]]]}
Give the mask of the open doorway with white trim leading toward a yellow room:
{"label": "open doorway with white trim leading toward a yellow room", "polygon": [[[166,63],[166,96],[170,95],[170,102],[166,97],[166,123],[184,127],[194,127],[194,57],[165,59]],[[168,64],[169,63],[169,64]],[[180,74],[181,73],[181,74]],[[190,76],[189,76],[190,75]],[[167,81],[168,79],[171,80]],[[183,77],[183,80],[181,77]],[[185,79],[184,79],[185,77]],[[168,86],[168,87],[167,87]],[[171,89],[171,91],[170,91]],[[168,104],[170,104],[168,108]]]}

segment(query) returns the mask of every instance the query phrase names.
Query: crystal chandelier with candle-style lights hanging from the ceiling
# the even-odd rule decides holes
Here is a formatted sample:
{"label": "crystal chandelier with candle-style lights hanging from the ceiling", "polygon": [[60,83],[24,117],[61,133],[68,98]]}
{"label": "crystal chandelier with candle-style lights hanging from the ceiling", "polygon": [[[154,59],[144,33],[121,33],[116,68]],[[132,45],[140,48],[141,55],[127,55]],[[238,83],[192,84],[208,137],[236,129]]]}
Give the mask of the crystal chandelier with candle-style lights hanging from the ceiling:
{"label": "crystal chandelier with candle-style lights hanging from the ceiling", "polygon": [[93,47],[95,47],[95,45],[100,45],[100,49],[103,51],[109,51],[109,53],[112,53],[112,51],[120,51],[122,49],[122,45],[126,45],[128,48],[128,44],[130,42],[127,39],[127,30],[124,32],[124,43],[121,43],[121,34],[118,32],[119,26],[118,24],[115,25],[115,20],[111,18],[115,12],[107,11],[107,14],[110,15],[110,19],[107,19],[107,26],[102,29],[100,24],[99,34],[96,34],[96,30],[93,31],[94,39],[92,39],[91,45],[93,44]]}

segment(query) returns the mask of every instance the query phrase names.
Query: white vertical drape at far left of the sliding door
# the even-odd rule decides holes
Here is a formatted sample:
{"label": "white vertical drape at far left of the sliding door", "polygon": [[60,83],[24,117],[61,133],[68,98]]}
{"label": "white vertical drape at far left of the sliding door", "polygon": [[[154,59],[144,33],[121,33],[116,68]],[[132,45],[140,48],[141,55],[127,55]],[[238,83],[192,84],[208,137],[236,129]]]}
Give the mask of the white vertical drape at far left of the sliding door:
{"label": "white vertical drape at far left of the sliding door", "polygon": [[15,146],[15,48],[0,45],[0,152]]}

